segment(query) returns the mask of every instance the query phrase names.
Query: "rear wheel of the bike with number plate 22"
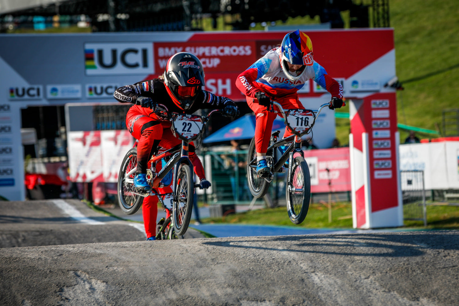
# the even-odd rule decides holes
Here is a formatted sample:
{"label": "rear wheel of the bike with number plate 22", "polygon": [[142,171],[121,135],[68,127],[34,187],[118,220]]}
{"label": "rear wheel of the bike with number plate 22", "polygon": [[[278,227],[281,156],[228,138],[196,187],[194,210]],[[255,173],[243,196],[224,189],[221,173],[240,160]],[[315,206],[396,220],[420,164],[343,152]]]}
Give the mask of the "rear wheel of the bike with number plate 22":
{"label": "rear wheel of the bike with number plate 22", "polygon": [[135,172],[129,177],[126,174],[137,167],[137,149],[132,148],[126,153],[118,174],[118,204],[121,210],[132,215],[142,206],[143,196],[134,194]]}

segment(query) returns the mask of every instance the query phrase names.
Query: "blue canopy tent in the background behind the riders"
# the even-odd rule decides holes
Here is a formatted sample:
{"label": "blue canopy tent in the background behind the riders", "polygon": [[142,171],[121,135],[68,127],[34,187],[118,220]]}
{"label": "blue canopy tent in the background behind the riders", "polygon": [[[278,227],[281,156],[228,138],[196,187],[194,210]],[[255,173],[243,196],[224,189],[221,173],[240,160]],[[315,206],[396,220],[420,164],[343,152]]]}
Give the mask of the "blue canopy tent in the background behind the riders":
{"label": "blue canopy tent in the background behind the riders", "polygon": [[[280,130],[280,137],[284,134],[284,119],[276,117],[273,123],[273,131]],[[238,139],[251,139],[255,135],[255,116],[247,114],[241,118],[225,125],[217,132],[203,140],[205,144],[219,141],[229,141]]]}

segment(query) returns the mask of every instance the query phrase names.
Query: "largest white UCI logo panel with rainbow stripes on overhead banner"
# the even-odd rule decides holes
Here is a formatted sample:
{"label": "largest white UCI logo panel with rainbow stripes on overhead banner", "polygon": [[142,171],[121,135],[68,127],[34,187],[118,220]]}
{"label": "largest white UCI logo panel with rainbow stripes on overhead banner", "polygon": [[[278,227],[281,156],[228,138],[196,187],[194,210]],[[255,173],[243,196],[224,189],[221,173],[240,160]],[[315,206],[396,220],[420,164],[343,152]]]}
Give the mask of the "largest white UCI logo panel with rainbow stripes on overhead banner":
{"label": "largest white UCI logo panel with rainbow stripes on overhead banner", "polygon": [[152,43],[85,43],[86,75],[151,74]]}

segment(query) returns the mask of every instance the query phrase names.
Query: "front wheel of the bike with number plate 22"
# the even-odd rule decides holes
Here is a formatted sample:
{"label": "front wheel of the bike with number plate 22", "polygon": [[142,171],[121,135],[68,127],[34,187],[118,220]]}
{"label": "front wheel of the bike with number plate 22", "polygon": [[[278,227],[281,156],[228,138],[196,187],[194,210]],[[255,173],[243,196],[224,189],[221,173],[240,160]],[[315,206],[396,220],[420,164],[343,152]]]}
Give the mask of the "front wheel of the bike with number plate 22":
{"label": "front wheel of the bike with number plate 22", "polygon": [[193,208],[193,175],[188,164],[181,164],[177,174],[177,187],[174,197],[174,228],[176,235],[185,234],[190,224]]}

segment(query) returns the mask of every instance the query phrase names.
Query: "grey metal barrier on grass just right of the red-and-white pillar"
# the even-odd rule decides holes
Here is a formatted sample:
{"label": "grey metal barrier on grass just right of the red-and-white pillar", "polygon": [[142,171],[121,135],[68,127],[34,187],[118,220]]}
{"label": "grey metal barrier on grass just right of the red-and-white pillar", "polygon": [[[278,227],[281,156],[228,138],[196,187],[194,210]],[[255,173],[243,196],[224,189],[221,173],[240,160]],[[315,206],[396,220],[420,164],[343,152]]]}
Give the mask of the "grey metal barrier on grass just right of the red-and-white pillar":
{"label": "grey metal barrier on grass just right of the red-and-white pillar", "polygon": [[400,171],[400,178],[403,197],[403,219],[424,221],[424,226],[427,226],[424,171]]}

